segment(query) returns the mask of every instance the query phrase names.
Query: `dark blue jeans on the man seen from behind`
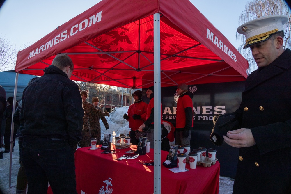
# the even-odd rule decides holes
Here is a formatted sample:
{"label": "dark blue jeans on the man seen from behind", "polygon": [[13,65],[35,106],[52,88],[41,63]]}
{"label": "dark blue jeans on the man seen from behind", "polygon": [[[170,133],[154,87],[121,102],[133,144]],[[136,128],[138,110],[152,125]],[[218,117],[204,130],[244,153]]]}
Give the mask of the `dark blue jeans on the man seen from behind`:
{"label": "dark blue jeans on the man seen from behind", "polygon": [[24,136],[21,159],[28,181],[27,194],[77,194],[74,152],[67,141]]}

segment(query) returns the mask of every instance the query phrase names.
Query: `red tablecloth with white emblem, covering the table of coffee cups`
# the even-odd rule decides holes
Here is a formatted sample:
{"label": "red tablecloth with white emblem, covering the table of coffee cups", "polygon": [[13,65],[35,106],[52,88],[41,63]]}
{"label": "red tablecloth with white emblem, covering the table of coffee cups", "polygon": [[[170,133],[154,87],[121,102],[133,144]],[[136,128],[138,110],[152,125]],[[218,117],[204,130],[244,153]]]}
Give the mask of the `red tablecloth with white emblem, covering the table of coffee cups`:
{"label": "red tablecloth with white emblem, covering the table of coffee cups", "polygon": [[[123,156],[130,149],[116,149],[120,152],[102,154],[101,149],[88,148],[90,147],[79,148],[75,153],[78,194],[154,193],[154,167],[138,163],[152,160],[153,149],[136,159],[117,161],[114,159]],[[136,149],[136,146],[131,145],[131,149]],[[162,162],[166,160],[167,154],[168,152],[161,151]],[[210,167],[197,165],[196,169],[190,169],[189,163],[186,163],[186,168],[189,169],[188,172],[173,173],[161,163],[161,193],[218,194],[218,161]],[[48,193],[52,193],[50,188]]]}

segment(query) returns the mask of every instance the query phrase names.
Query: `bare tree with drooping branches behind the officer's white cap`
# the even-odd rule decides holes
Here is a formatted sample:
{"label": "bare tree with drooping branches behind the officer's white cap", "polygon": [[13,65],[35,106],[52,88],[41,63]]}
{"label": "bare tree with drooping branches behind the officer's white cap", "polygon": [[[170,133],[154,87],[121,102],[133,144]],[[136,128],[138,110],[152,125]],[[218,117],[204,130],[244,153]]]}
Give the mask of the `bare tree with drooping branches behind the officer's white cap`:
{"label": "bare tree with drooping branches behind the officer's white cap", "polygon": [[[284,25],[284,49],[291,47],[290,40],[290,25],[291,25],[291,14],[288,5],[286,5],[284,0],[254,0],[248,1],[245,10],[241,13],[239,17],[239,25],[244,24],[250,20],[267,16],[282,14],[287,15],[289,20]],[[253,59],[250,49],[243,49],[245,45],[245,37],[242,34],[236,34],[237,40],[241,40],[242,45],[239,47],[238,51],[249,61],[249,71],[250,74],[253,70],[257,69],[257,65]]]}

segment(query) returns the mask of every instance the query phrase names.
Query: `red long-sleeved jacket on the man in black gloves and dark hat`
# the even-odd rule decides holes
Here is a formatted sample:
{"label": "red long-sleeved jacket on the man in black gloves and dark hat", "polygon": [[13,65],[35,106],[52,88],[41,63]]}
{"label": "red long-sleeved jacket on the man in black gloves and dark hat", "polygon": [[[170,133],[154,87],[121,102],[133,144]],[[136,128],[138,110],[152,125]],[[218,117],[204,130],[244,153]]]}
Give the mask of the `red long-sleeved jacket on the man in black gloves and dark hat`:
{"label": "red long-sleeved jacket on the man in black gloves and dark hat", "polygon": [[[135,102],[129,106],[127,115],[129,121],[129,128],[136,131],[139,127],[145,122],[146,111],[148,108],[148,104],[143,101]],[[133,115],[141,115],[141,119],[133,119]]]}

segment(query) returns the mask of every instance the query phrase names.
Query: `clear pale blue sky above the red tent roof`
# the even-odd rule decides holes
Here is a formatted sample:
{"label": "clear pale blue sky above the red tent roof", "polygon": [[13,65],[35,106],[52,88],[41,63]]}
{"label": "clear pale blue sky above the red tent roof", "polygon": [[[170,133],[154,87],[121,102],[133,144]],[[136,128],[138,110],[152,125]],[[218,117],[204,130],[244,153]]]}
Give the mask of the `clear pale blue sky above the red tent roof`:
{"label": "clear pale blue sky above the red tent roof", "polygon": [[[98,2],[100,0],[6,0],[0,9],[0,34],[24,49],[24,45],[38,41]],[[191,0],[191,3],[235,48],[239,47],[241,43],[235,40],[235,34],[247,0]]]}

